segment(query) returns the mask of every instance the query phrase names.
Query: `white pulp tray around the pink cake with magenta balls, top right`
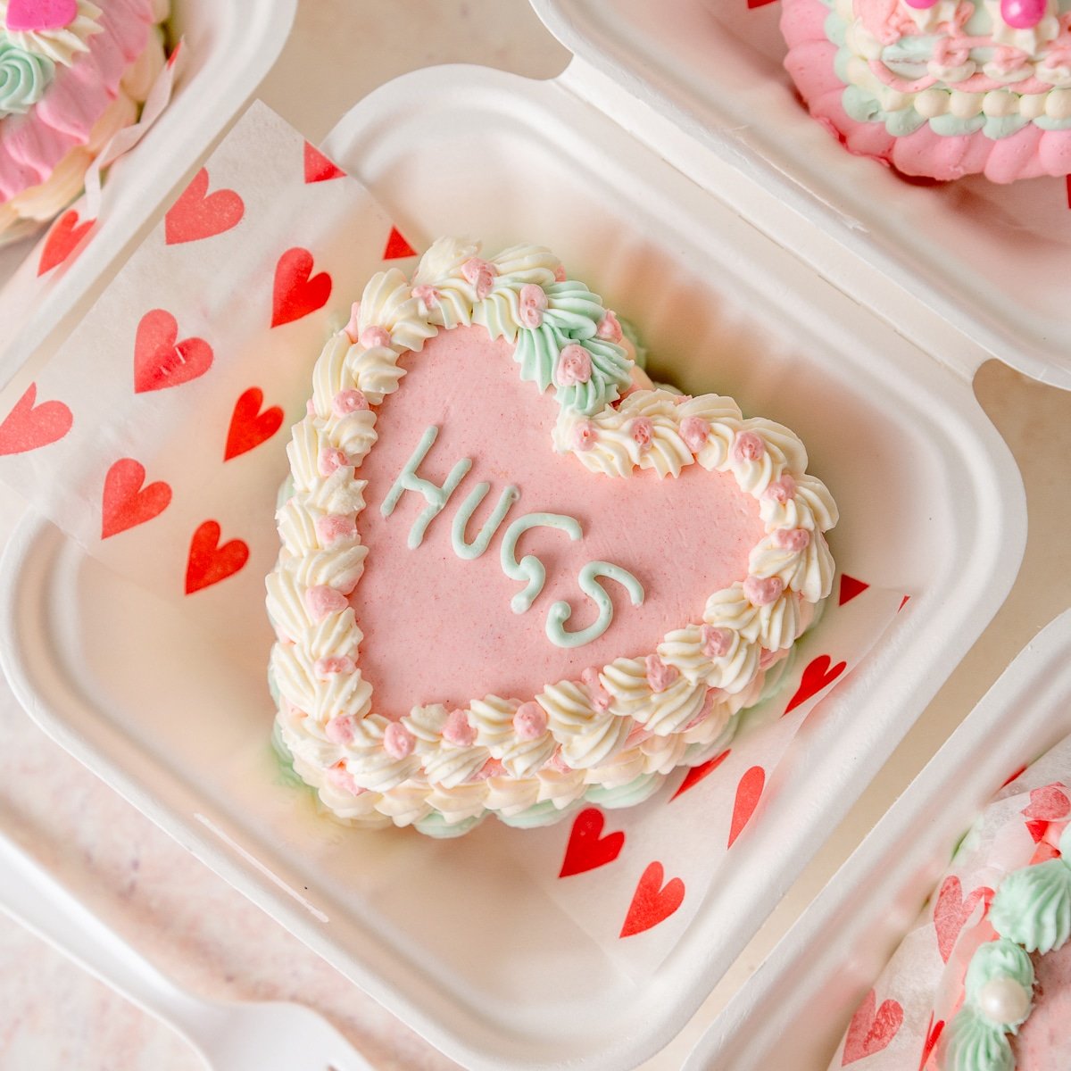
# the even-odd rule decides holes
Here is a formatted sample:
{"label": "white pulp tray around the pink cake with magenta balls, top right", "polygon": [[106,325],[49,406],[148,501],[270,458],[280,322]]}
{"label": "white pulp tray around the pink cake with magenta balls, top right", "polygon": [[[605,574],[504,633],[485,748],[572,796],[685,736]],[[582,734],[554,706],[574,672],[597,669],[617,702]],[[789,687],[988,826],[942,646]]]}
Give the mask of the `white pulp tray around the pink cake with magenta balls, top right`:
{"label": "white pulp tray around the pink cake with magenta balls, top right", "polygon": [[[938,360],[969,377],[997,357],[1071,390],[1062,179],[923,185],[853,156],[800,105],[769,0],[532,5],[576,57],[564,76],[574,92]],[[920,320],[920,305],[935,316]],[[953,352],[962,341],[940,321],[967,351]]]}

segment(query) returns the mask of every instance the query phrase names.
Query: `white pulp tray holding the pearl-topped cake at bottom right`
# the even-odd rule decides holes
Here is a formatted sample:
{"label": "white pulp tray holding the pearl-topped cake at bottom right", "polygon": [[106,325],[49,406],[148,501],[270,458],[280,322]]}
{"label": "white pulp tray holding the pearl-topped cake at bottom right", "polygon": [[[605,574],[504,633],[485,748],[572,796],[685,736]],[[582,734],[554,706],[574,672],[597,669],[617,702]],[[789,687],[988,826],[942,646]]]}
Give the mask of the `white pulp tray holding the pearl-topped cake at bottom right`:
{"label": "white pulp tray holding the pearl-topped cake at bottom right", "polygon": [[1071,734],[1071,610],[1005,670],[700,1040],[687,1071],[825,1071],[1009,774]]}

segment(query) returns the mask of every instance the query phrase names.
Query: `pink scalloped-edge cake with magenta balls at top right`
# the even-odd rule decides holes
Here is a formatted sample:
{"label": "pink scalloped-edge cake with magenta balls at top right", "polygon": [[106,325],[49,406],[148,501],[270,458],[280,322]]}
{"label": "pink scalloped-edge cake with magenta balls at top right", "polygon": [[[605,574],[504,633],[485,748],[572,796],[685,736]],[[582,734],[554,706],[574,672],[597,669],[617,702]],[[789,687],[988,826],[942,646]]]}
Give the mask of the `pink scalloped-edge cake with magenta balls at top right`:
{"label": "pink scalloped-edge cake with magenta balls at top right", "polygon": [[781,26],[851,152],[938,180],[1071,172],[1071,0],[783,0]]}

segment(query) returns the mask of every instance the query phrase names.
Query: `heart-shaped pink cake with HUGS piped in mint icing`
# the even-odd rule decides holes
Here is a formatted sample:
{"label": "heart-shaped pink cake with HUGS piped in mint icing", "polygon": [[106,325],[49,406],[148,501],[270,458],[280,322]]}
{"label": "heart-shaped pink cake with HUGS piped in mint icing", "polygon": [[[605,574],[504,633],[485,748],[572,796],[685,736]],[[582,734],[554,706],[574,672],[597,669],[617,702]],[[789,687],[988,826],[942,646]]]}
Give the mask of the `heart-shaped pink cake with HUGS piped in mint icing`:
{"label": "heart-shaped pink cake with HUGS piped in mint icing", "polygon": [[835,506],[787,428],[634,358],[546,250],[451,239],[328,343],[268,609],[276,738],[336,816],[638,802],[780,676]]}

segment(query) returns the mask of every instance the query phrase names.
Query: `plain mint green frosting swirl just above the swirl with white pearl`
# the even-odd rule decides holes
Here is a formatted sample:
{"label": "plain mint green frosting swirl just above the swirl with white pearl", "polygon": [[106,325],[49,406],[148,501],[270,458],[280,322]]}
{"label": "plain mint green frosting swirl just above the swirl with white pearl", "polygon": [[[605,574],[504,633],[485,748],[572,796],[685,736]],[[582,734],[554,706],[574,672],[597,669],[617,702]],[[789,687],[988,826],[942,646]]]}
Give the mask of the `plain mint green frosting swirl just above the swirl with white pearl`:
{"label": "plain mint green frosting swirl just above the swirl with white pearl", "polygon": [[1062,859],[1009,874],[993,897],[990,922],[1028,952],[1051,952],[1071,937],[1071,869]]}

